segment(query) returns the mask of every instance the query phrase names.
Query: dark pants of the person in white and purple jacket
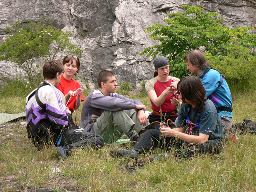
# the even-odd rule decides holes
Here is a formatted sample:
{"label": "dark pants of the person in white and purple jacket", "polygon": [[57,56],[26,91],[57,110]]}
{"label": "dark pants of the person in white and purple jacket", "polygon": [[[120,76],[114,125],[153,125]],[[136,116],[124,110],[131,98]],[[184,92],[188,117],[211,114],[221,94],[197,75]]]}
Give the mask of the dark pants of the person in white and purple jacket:
{"label": "dark pants of the person in white and purple jacket", "polygon": [[[62,131],[60,147],[93,147],[93,148],[101,148],[104,145],[103,138],[100,135],[95,133],[90,133],[86,131],[82,131],[80,133],[75,132],[74,129],[78,129],[75,124],[72,124],[71,127]],[[52,141],[55,146],[57,146],[57,142],[59,141],[61,132],[60,130],[51,131],[48,129],[48,132],[39,132],[36,136],[33,136],[33,143],[41,150],[42,147],[45,147],[49,141]]]}

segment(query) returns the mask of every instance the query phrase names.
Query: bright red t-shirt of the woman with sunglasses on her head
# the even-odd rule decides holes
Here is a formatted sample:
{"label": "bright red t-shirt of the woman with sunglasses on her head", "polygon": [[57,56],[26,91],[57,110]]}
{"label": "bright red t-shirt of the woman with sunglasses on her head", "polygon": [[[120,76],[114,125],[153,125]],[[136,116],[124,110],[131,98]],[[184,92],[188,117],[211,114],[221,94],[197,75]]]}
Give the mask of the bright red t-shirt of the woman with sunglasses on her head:
{"label": "bright red t-shirt of the woman with sunglasses on her head", "polygon": [[[80,83],[73,78],[69,81],[64,78],[64,76],[61,76],[60,83],[57,87],[64,95],[66,95],[69,91],[76,91],[79,87],[81,87]],[[71,111],[71,113],[74,112],[74,105],[76,102],[76,97],[71,97],[71,99],[68,102],[68,109]],[[81,101],[84,101],[83,93],[81,94]]]}

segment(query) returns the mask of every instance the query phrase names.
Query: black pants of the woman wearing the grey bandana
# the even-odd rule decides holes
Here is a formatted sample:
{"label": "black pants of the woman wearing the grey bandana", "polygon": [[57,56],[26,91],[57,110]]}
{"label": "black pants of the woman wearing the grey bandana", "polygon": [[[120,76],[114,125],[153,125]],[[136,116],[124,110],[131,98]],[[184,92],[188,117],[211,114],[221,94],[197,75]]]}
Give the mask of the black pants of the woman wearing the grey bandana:
{"label": "black pants of the woman wearing the grey bandana", "polygon": [[[176,118],[178,117],[178,114],[174,115],[174,116],[170,116],[168,113],[165,116],[160,116],[157,114],[152,113],[148,119],[149,123],[153,123],[154,121],[165,121],[165,123],[167,123],[167,120],[170,119],[173,121],[173,123],[175,122]],[[170,128],[175,128],[176,126],[172,124],[171,121],[168,122],[169,127]],[[151,124],[149,129],[158,129],[159,130],[160,124],[159,123],[153,123]]]}

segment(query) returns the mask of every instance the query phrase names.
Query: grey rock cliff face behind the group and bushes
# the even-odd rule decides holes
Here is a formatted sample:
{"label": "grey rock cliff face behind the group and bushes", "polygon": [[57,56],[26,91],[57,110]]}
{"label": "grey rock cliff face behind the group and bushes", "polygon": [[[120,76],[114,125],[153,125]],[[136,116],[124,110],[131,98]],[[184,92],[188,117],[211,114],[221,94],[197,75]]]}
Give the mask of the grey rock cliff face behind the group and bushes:
{"label": "grey rock cliff face behind the group and bushes", "polygon": [[[93,89],[98,73],[105,69],[112,69],[118,82],[139,85],[154,72],[151,59],[138,56],[155,44],[146,27],[163,23],[166,14],[182,12],[185,4],[219,12],[230,27],[251,26],[250,9],[255,12],[249,1],[241,0],[1,0],[0,43],[6,26],[45,16],[59,29],[74,31],[71,41],[86,49],[77,76],[83,87]],[[0,62],[0,75],[16,71],[14,64]]]}

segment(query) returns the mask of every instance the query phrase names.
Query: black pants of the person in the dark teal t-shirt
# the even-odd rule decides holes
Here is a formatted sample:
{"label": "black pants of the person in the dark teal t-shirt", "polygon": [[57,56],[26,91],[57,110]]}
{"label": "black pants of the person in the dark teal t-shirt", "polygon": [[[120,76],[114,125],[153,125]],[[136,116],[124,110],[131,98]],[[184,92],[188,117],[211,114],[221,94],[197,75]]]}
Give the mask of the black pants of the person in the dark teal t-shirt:
{"label": "black pants of the person in the dark teal t-shirt", "polygon": [[190,158],[194,157],[195,154],[206,154],[215,153],[218,154],[221,151],[221,144],[217,140],[208,140],[203,144],[189,146],[187,142],[174,137],[164,137],[161,132],[157,129],[150,129],[144,132],[138,139],[138,143],[135,143],[133,148],[140,153],[148,152],[150,150],[155,150],[157,147],[165,148],[175,148],[178,157]]}

